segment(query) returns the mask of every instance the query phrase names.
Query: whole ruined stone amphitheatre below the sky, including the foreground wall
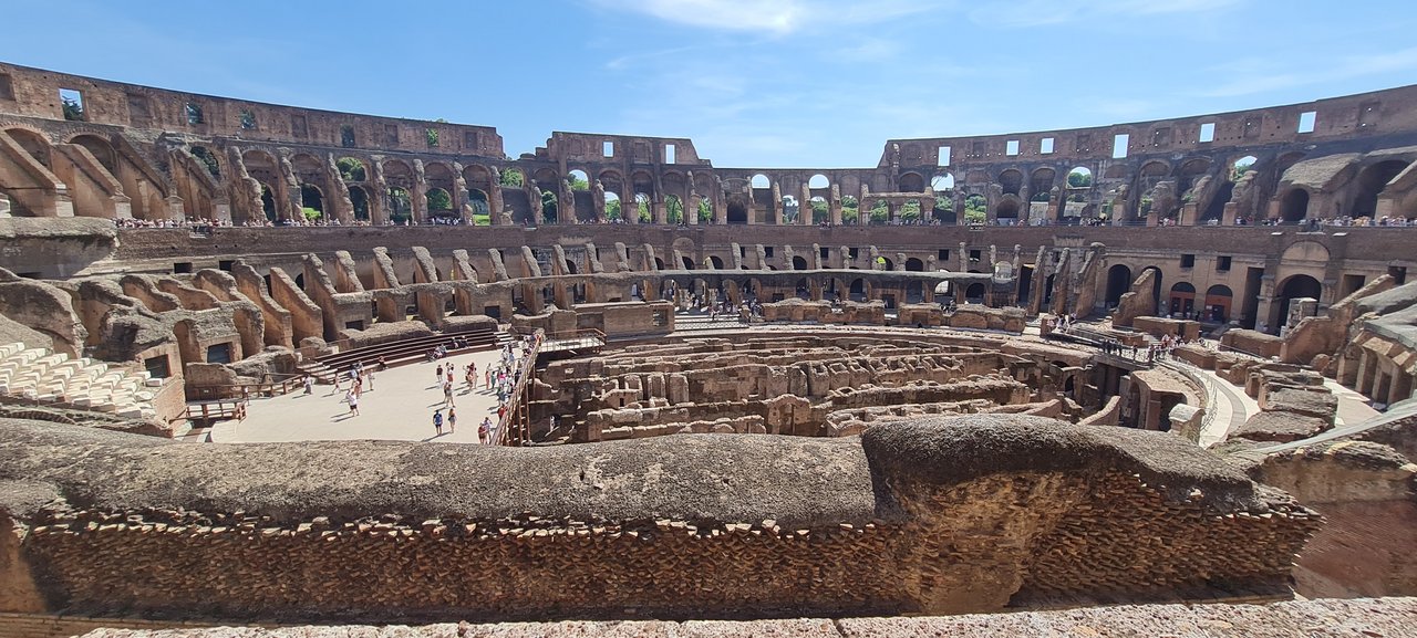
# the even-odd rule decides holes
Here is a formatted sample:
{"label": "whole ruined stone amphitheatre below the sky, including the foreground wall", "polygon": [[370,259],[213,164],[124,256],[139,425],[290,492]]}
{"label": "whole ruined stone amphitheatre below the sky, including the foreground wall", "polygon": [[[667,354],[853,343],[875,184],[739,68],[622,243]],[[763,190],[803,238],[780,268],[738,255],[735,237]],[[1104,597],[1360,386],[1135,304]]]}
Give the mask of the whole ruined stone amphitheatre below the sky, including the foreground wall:
{"label": "whole ruined stone amphitheatre below the sky, including the foreground wall", "polygon": [[4,635],[1417,614],[1417,86],[777,170],[0,64],[0,238]]}

